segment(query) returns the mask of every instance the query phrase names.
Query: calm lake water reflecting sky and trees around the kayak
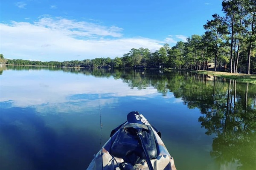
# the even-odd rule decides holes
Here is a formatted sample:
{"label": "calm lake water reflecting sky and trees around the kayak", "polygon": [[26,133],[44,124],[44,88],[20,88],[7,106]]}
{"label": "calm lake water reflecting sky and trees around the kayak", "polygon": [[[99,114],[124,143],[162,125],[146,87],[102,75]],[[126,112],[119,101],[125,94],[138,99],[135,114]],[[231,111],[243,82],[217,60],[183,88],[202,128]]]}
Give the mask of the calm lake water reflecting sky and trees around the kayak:
{"label": "calm lake water reflecting sky and trees around the kayak", "polygon": [[[0,169],[85,170],[139,111],[177,170],[256,169],[256,85],[193,74],[0,68]],[[99,109],[100,108],[100,109]]]}

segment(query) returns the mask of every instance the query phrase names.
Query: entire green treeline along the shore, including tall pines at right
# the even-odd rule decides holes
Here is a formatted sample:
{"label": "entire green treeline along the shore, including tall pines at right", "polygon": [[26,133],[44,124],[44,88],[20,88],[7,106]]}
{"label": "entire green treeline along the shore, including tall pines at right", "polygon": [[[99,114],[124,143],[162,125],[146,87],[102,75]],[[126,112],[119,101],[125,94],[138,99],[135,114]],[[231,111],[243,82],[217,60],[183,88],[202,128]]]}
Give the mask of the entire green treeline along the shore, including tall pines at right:
{"label": "entire green treeline along the shore, including tall pines at right", "polygon": [[[122,57],[95,58],[82,61],[41,62],[4,59],[14,65],[48,65],[56,67],[174,68],[230,73],[256,72],[256,0],[223,0],[224,16],[213,14],[204,25],[203,35],[192,35],[173,47],[164,44],[156,51],[132,48]],[[212,63],[209,65],[209,63]]]}

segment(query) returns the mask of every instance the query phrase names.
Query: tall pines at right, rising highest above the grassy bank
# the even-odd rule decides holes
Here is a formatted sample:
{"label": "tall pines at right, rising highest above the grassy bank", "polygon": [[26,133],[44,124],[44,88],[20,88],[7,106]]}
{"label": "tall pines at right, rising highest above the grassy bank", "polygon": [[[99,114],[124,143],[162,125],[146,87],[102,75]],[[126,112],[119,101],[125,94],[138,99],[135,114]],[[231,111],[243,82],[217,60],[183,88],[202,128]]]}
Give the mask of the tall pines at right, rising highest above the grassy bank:
{"label": "tall pines at right, rising highest above the grassy bank", "polygon": [[215,71],[218,64],[227,62],[230,73],[250,74],[251,66],[256,68],[256,0],[223,0],[222,11],[224,17],[213,14],[204,25],[201,47],[214,56]]}

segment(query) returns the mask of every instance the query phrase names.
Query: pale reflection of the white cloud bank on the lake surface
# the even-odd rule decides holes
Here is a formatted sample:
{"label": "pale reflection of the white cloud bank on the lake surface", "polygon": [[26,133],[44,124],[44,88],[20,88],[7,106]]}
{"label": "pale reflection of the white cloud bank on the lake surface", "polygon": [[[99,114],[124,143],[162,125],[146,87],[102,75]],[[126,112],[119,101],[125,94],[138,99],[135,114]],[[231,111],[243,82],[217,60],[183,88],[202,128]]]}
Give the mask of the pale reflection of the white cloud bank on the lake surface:
{"label": "pale reflection of the white cloud bank on the lake surface", "polygon": [[[29,107],[83,101],[88,107],[97,106],[99,103],[101,105],[116,103],[119,97],[148,98],[158,95],[157,89],[153,87],[148,87],[146,90],[131,89],[122,79],[114,80],[113,77],[99,79],[84,74],[65,74],[65,76],[60,74],[63,73],[55,71],[49,75],[48,71],[25,71],[15,74],[14,77],[6,76],[5,81],[1,82],[0,102],[12,101],[12,106]],[[83,95],[84,99],[76,98],[78,94]],[[95,94],[107,98],[90,97]]]}

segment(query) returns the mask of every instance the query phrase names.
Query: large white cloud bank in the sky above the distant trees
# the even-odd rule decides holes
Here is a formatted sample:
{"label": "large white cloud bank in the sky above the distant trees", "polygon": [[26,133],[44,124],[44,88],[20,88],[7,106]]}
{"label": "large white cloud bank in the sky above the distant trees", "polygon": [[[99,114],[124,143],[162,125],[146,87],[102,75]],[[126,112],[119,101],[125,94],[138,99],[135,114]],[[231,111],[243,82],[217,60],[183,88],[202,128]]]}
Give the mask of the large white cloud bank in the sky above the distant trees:
{"label": "large white cloud bank in the sky above the distant trees", "polygon": [[1,23],[0,48],[12,59],[64,61],[122,57],[131,48],[151,50],[162,46],[163,42],[144,37],[124,38],[122,30],[117,26],[44,15],[33,23]]}

